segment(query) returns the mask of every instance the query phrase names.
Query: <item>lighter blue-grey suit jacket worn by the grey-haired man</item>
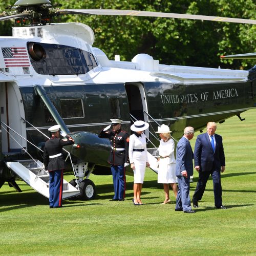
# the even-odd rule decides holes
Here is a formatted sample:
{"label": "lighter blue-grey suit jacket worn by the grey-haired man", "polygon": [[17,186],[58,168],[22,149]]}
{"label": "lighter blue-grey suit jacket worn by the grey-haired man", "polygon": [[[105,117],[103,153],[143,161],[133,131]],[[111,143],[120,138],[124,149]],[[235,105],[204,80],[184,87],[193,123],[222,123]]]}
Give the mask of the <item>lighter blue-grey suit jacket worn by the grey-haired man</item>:
{"label": "lighter blue-grey suit jacket worn by the grey-haired man", "polygon": [[193,151],[191,145],[184,136],[179,140],[176,148],[176,176],[182,176],[183,170],[187,176],[193,176]]}

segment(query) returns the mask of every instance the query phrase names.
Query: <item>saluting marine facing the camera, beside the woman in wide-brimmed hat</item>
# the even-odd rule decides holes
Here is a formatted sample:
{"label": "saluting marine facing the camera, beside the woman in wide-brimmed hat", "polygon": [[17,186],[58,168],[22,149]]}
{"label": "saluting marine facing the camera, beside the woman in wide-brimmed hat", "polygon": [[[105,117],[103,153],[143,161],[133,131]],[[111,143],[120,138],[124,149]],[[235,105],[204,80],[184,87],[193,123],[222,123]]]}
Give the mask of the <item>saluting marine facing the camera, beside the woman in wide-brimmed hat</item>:
{"label": "saluting marine facing the camera, beside the woman in wide-brimmed hat", "polygon": [[110,139],[111,151],[108,162],[111,164],[111,172],[114,184],[114,197],[110,201],[123,201],[125,197],[125,166],[129,165],[129,134],[121,130],[120,119],[110,119],[111,125],[105,127],[99,133],[99,138]]}

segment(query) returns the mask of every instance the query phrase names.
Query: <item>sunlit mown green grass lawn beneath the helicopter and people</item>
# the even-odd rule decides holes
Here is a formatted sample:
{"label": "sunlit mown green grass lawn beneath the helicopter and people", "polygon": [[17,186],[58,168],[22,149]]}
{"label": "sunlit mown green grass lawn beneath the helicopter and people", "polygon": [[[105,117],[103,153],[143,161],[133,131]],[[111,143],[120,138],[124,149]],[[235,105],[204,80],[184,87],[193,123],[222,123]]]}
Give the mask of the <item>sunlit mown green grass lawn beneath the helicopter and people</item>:
{"label": "sunlit mown green grass lawn beneath the helicopter and people", "polygon": [[[49,209],[48,199],[22,181],[18,184],[23,193],[5,183],[0,190],[0,255],[255,255],[256,110],[241,116],[246,120],[232,117],[217,125],[226,154],[222,188],[228,209],[214,207],[211,179],[196,214],[176,212],[172,191],[172,203],[161,205],[162,185],[150,169],[141,206],[132,204],[133,177],[129,176],[123,202],[109,202],[111,176],[92,175],[96,199],[66,200],[59,209]],[[190,197],[197,177],[195,173]]]}

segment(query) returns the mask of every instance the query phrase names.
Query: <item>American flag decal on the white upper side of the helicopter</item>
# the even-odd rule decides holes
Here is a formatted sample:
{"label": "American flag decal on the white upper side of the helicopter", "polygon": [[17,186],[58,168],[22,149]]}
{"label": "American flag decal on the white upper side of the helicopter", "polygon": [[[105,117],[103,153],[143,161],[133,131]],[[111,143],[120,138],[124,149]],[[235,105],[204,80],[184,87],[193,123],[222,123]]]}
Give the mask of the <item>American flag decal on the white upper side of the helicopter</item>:
{"label": "American flag decal on the white upper side of the helicopter", "polygon": [[5,66],[8,67],[30,67],[28,54],[25,47],[2,48]]}

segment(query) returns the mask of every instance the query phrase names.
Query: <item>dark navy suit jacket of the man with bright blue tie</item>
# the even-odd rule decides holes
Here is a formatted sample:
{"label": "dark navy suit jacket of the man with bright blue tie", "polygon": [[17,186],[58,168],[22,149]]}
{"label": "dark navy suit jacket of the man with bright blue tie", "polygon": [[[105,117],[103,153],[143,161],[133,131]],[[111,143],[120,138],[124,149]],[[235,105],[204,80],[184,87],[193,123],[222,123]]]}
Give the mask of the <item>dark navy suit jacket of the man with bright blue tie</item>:
{"label": "dark navy suit jacket of the man with bright blue tie", "polygon": [[211,172],[217,170],[220,172],[221,166],[225,166],[225,154],[222,144],[222,137],[215,134],[215,152],[209,140],[208,133],[197,136],[194,158],[195,166],[200,166],[202,172]]}

